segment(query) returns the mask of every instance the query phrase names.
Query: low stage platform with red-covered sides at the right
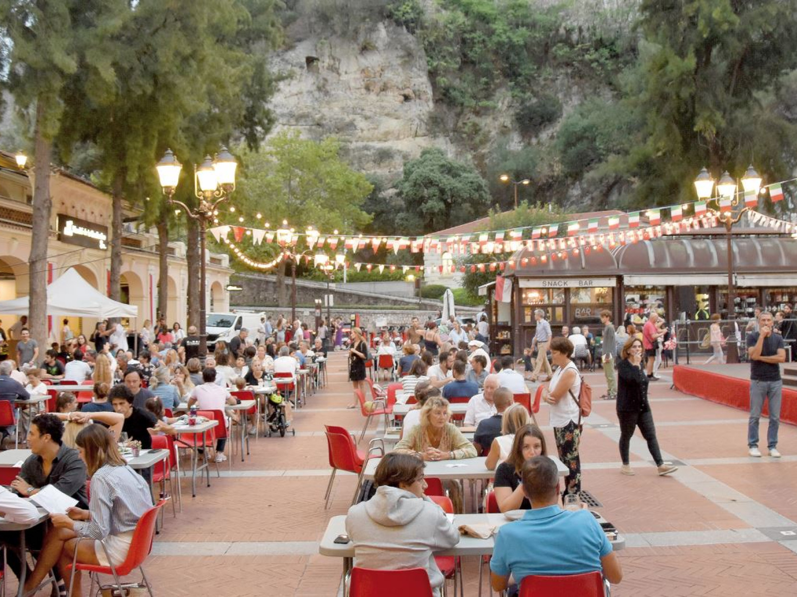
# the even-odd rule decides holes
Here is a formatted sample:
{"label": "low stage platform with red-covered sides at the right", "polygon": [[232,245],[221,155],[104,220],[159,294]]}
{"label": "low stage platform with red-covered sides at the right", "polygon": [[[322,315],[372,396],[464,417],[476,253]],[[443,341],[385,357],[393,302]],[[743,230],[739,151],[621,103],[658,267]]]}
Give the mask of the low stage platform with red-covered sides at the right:
{"label": "low stage platform with red-covered sides at the right", "polygon": [[[750,410],[750,365],[675,365],[673,385],[685,394]],[[766,404],[764,414],[769,414]],[[780,421],[797,425],[797,391],[793,389],[783,388]]]}

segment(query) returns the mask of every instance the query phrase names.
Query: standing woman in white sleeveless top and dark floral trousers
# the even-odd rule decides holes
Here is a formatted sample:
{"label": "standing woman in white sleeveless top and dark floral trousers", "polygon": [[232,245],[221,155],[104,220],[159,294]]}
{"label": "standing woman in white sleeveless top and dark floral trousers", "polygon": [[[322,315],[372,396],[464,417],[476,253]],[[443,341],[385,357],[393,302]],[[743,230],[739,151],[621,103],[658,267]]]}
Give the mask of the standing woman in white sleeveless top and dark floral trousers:
{"label": "standing woman in white sleeveless top and dark floral trousers", "polygon": [[571,360],[573,343],[567,338],[553,338],[550,345],[551,362],[556,366],[548,388],[543,389],[542,400],[551,405],[550,423],[556,439],[559,460],[570,472],[564,478],[567,494],[581,494],[581,411],[577,402],[581,392],[581,374]]}

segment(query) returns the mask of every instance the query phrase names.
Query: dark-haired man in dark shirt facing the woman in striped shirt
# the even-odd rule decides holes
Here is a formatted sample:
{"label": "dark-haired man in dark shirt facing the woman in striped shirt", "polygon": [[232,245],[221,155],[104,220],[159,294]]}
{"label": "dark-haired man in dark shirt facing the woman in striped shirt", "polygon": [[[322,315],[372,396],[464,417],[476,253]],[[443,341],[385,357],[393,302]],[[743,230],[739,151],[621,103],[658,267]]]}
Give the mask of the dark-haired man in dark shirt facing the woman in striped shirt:
{"label": "dark-haired man in dark shirt facing the woman in striped shirt", "polygon": [[[64,423],[57,416],[47,413],[33,417],[28,431],[28,445],[33,454],[22,463],[19,476],[11,486],[23,497],[36,495],[41,488],[52,485],[61,493],[74,497],[79,508],[88,509],[86,496],[86,465],[77,450],[61,443]],[[45,469],[49,473],[45,474]],[[26,548],[40,549],[47,525],[37,525],[25,532]],[[19,532],[0,533],[0,543],[10,549],[7,559],[10,568],[20,577],[22,563],[18,545]],[[30,570],[28,570],[30,575]]]}

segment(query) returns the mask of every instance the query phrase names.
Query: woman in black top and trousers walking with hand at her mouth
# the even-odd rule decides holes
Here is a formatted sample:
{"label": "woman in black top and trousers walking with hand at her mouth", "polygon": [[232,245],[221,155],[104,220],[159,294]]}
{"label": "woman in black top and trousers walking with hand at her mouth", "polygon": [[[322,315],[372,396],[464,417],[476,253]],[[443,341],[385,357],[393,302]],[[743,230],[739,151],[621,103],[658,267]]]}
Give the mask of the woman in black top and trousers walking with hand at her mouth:
{"label": "woman in black top and trousers walking with hand at her mouth", "polygon": [[620,421],[620,458],[622,474],[634,474],[628,462],[628,447],[634,430],[639,427],[642,437],[648,443],[648,450],[658,466],[659,476],[670,474],[678,470],[677,466],[667,465],[658,449],[656,427],[653,423],[653,413],[650,412],[648,401],[648,378],[642,367],[642,340],[629,338],[622,347],[620,361],[617,364],[617,418]]}

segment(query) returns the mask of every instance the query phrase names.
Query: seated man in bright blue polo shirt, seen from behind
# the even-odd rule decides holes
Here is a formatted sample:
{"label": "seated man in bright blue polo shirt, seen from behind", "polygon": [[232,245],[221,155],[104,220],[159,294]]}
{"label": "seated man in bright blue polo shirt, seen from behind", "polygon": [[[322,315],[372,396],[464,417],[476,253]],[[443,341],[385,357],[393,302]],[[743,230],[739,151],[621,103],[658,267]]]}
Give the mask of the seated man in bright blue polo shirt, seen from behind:
{"label": "seated man in bright blue polo shirt, seen from behind", "polygon": [[505,591],[511,575],[518,587],[529,575],[563,576],[599,570],[612,583],[622,569],[600,525],[587,510],[559,508],[559,474],[548,456],[523,465],[523,491],[532,502],[520,521],[498,530],[490,560],[494,591]]}

